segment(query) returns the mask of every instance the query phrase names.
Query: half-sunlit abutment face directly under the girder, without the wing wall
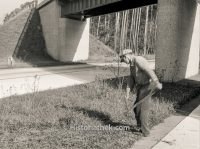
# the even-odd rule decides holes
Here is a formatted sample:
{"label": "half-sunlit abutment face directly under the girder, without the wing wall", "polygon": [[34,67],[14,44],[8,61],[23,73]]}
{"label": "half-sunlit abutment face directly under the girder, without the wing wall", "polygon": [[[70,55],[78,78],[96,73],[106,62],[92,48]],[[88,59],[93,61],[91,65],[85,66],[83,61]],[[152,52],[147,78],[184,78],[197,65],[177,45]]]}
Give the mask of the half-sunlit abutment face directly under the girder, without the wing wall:
{"label": "half-sunlit abutment face directly under the girder, without the wing wall", "polygon": [[89,56],[90,21],[59,19],[60,61],[87,60]]}

